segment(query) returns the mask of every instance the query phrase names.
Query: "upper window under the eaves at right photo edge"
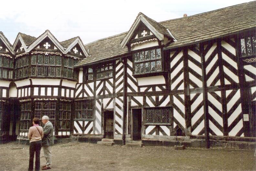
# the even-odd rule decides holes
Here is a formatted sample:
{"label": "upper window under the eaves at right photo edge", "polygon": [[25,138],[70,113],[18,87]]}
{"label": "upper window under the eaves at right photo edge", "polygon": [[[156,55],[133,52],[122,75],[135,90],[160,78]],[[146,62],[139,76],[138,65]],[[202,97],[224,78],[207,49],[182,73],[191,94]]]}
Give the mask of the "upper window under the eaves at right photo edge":
{"label": "upper window under the eaves at right photo edge", "polygon": [[241,42],[241,56],[256,55],[256,36],[244,36],[240,39]]}

